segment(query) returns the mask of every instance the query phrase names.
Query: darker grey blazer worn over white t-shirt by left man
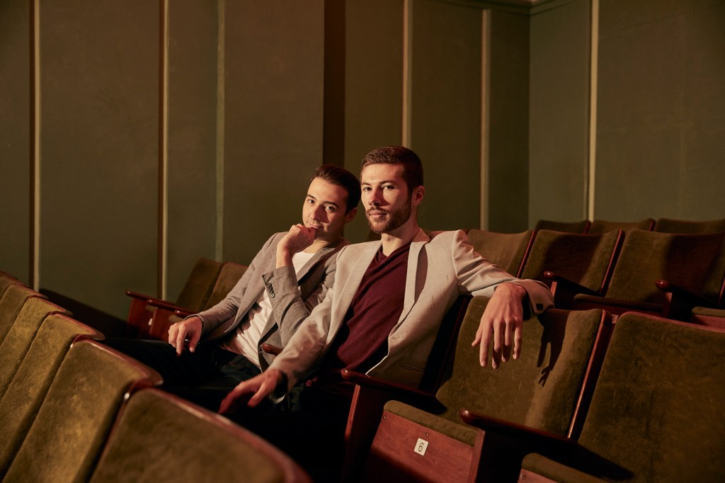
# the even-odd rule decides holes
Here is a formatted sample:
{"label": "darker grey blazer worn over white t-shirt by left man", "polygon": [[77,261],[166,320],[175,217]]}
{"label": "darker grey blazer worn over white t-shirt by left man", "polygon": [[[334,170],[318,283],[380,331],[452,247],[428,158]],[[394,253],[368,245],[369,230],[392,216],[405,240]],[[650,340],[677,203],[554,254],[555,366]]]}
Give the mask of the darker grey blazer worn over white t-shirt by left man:
{"label": "darker grey blazer worn over white t-shirt by left man", "polygon": [[196,314],[202,319],[202,342],[219,342],[239,326],[262,290],[266,289],[272,303],[272,315],[262,329],[257,345],[262,370],[274,360],[273,355],[262,350],[262,344],[266,342],[284,347],[289,342],[312,308],[325,298],[327,286],[333,284],[333,255],[349,244],[346,239],[341,239],[334,246],[320,249],[305,263],[298,281],[294,267],[275,270],[277,244],[285,234],[270,236],[225,299]]}

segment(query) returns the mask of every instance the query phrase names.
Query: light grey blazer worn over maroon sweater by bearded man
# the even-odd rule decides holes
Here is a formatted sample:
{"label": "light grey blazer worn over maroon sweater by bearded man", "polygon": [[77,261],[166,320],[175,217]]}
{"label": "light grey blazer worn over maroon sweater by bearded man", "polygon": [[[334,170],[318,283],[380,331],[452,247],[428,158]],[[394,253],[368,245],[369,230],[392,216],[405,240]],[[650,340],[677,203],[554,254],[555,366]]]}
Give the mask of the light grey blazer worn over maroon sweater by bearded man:
{"label": "light grey blazer worn over maroon sweater by bearded man", "polygon": [[[305,378],[326,354],[365,270],[380,247],[380,241],[370,241],[340,250],[335,261],[334,286],[271,364],[286,374],[287,390]],[[507,281],[526,289],[531,313],[541,313],[553,305],[552,293],[546,285],[515,278],[489,263],[468,243],[463,231],[431,236],[419,231],[410,245],[403,310],[388,336],[388,354],[368,374],[418,387],[439,325],[457,297],[491,297],[497,284]]]}

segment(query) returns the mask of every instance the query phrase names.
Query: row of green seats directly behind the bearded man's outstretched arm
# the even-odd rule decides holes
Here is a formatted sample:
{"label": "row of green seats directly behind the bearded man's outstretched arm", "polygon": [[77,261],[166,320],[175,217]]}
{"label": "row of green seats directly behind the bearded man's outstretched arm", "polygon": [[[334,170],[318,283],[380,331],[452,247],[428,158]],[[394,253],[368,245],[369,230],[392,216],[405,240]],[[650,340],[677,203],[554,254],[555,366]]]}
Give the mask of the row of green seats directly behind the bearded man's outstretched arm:
{"label": "row of green seats directly behind the bearded man's outstretched arm", "polygon": [[725,231],[471,229],[468,237],[492,263],[550,286],[556,307],[600,307],[614,316],[637,310],[725,326]]}

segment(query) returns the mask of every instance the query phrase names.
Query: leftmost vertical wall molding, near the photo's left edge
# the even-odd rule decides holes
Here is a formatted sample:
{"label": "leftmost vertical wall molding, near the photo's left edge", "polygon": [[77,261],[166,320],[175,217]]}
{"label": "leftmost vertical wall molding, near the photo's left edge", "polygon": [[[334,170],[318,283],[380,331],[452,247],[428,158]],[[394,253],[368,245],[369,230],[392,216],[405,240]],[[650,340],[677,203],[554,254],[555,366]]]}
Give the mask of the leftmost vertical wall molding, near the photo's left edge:
{"label": "leftmost vertical wall molding, near the photo's left edge", "polygon": [[41,245],[41,13],[40,0],[31,4],[33,28],[30,30],[30,89],[32,102],[30,112],[30,286],[40,289],[40,245]]}

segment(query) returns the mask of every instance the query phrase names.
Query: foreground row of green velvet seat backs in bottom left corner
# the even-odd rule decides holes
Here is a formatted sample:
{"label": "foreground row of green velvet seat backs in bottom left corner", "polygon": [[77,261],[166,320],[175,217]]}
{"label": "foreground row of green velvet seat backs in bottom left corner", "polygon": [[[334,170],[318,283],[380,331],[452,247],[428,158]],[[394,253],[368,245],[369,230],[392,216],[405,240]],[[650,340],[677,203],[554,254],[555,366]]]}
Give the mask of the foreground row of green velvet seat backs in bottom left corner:
{"label": "foreground row of green velvet seat backs in bottom left corner", "polygon": [[309,482],[276,447],[0,273],[0,480]]}

